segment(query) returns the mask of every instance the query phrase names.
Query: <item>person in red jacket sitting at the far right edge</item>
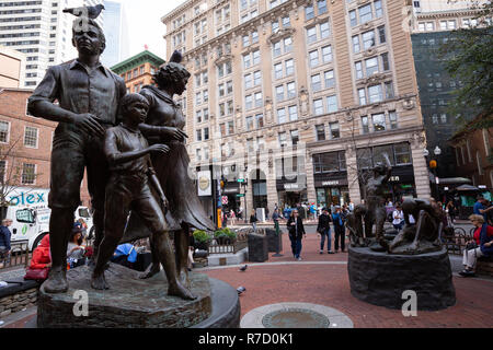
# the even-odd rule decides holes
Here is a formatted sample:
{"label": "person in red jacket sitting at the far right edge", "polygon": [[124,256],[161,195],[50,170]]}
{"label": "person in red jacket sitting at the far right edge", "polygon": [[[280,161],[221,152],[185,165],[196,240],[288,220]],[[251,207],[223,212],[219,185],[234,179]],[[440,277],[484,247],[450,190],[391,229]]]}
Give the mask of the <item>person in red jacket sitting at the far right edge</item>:
{"label": "person in red jacket sitting at the far right edge", "polygon": [[467,243],[463,250],[462,264],[465,270],[459,272],[462,277],[473,277],[478,258],[493,256],[493,226],[484,222],[483,215],[472,214],[469,220],[477,228],[471,241]]}

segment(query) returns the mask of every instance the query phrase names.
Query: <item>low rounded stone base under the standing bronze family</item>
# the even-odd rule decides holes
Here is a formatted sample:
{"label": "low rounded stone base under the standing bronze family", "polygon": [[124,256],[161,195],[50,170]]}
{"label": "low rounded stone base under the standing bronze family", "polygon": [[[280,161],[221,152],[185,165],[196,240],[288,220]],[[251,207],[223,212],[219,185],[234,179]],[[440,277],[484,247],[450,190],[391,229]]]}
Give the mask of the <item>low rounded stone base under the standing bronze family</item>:
{"label": "low rounded stone base under the standing bronze family", "polygon": [[[151,279],[140,280],[137,271],[111,264],[105,272],[111,289],[105,291],[92,289],[90,276],[91,270],[87,266],[68,271],[67,293],[49,294],[42,285],[37,327],[183,328],[202,324],[208,327],[216,324],[219,327],[239,325],[240,305],[236,290],[226,283],[226,287],[210,283],[206,275],[190,275],[191,290],[197,296],[194,301],[168,296],[168,282],[163,271]],[[214,302],[213,299],[221,293],[229,295],[229,299],[219,295],[221,300]],[[87,316],[76,316],[73,311],[82,310],[80,305],[84,296],[89,313]],[[210,320],[213,315],[215,318]]]}

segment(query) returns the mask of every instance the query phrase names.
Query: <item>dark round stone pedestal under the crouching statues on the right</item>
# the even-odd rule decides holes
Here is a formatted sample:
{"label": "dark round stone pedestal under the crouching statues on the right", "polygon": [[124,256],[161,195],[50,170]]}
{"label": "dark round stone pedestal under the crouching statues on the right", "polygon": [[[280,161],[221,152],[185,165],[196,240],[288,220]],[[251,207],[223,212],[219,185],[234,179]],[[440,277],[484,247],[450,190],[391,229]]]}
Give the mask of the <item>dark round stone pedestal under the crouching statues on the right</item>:
{"label": "dark round stone pedestal under the crouching statues on the right", "polygon": [[447,250],[422,255],[389,255],[369,248],[348,250],[347,270],[353,296],[378,306],[402,308],[404,291],[417,295],[417,310],[436,311],[455,305]]}

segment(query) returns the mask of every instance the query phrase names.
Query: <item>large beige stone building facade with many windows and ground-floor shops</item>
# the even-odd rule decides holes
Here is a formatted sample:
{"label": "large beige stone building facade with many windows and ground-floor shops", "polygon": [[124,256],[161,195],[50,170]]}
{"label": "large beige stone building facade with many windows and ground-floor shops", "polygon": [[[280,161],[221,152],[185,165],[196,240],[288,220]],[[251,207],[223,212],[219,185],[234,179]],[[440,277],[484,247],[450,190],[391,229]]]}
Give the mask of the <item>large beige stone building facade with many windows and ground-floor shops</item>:
{"label": "large beige stone building facade with many windows and ground-floor shops", "polygon": [[383,154],[394,166],[389,198],[429,197],[403,8],[190,0],[162,18],[168,52],[181,50],[192,73],[180,97],[191,159],[222,176],[229,208],[358,203]]}

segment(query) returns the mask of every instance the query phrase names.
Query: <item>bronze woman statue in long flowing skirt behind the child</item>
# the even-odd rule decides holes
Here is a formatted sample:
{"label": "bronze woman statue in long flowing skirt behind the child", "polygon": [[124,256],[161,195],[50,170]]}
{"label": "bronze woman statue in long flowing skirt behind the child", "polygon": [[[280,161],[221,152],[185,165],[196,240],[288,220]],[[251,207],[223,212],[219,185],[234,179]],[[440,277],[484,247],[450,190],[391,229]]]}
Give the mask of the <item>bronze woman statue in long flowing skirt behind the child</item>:
{"label": "bronze woman statue in long flowing skirt behind the child", "polygon": [[[205,213],[196,186],[188,176],[190,158],[185,148],[187,136],[183,132],[185,117],[173,96],[183,94],[191,74],[180,61],[181,55],[175,51],[170,62],[154,74],[153,80],[158,86],[146,85],[141,89],[140,94],[149,101],[149,112],[146,124],[139,128],[147,136],[149,144],[164,143],[170,148],[167,154],[154,154],[152,164],[169,201],[167,222],[170,231],[174,231],[176,269],[179,273],[184,270],[187,275],[190,229],[214,231],[215,224]],[[142,232],[146,232],[146,228],[138,215],[130,214],[125,241],[129,241],[128,237],[141,237]],[[150,233],[144,236],[150,236]],[[151,248],[152,246],[151,241]],[[156,249],[152,253],[152,265],[142,278],[149,278],[160,270],[159,258],[154,253]]]}

